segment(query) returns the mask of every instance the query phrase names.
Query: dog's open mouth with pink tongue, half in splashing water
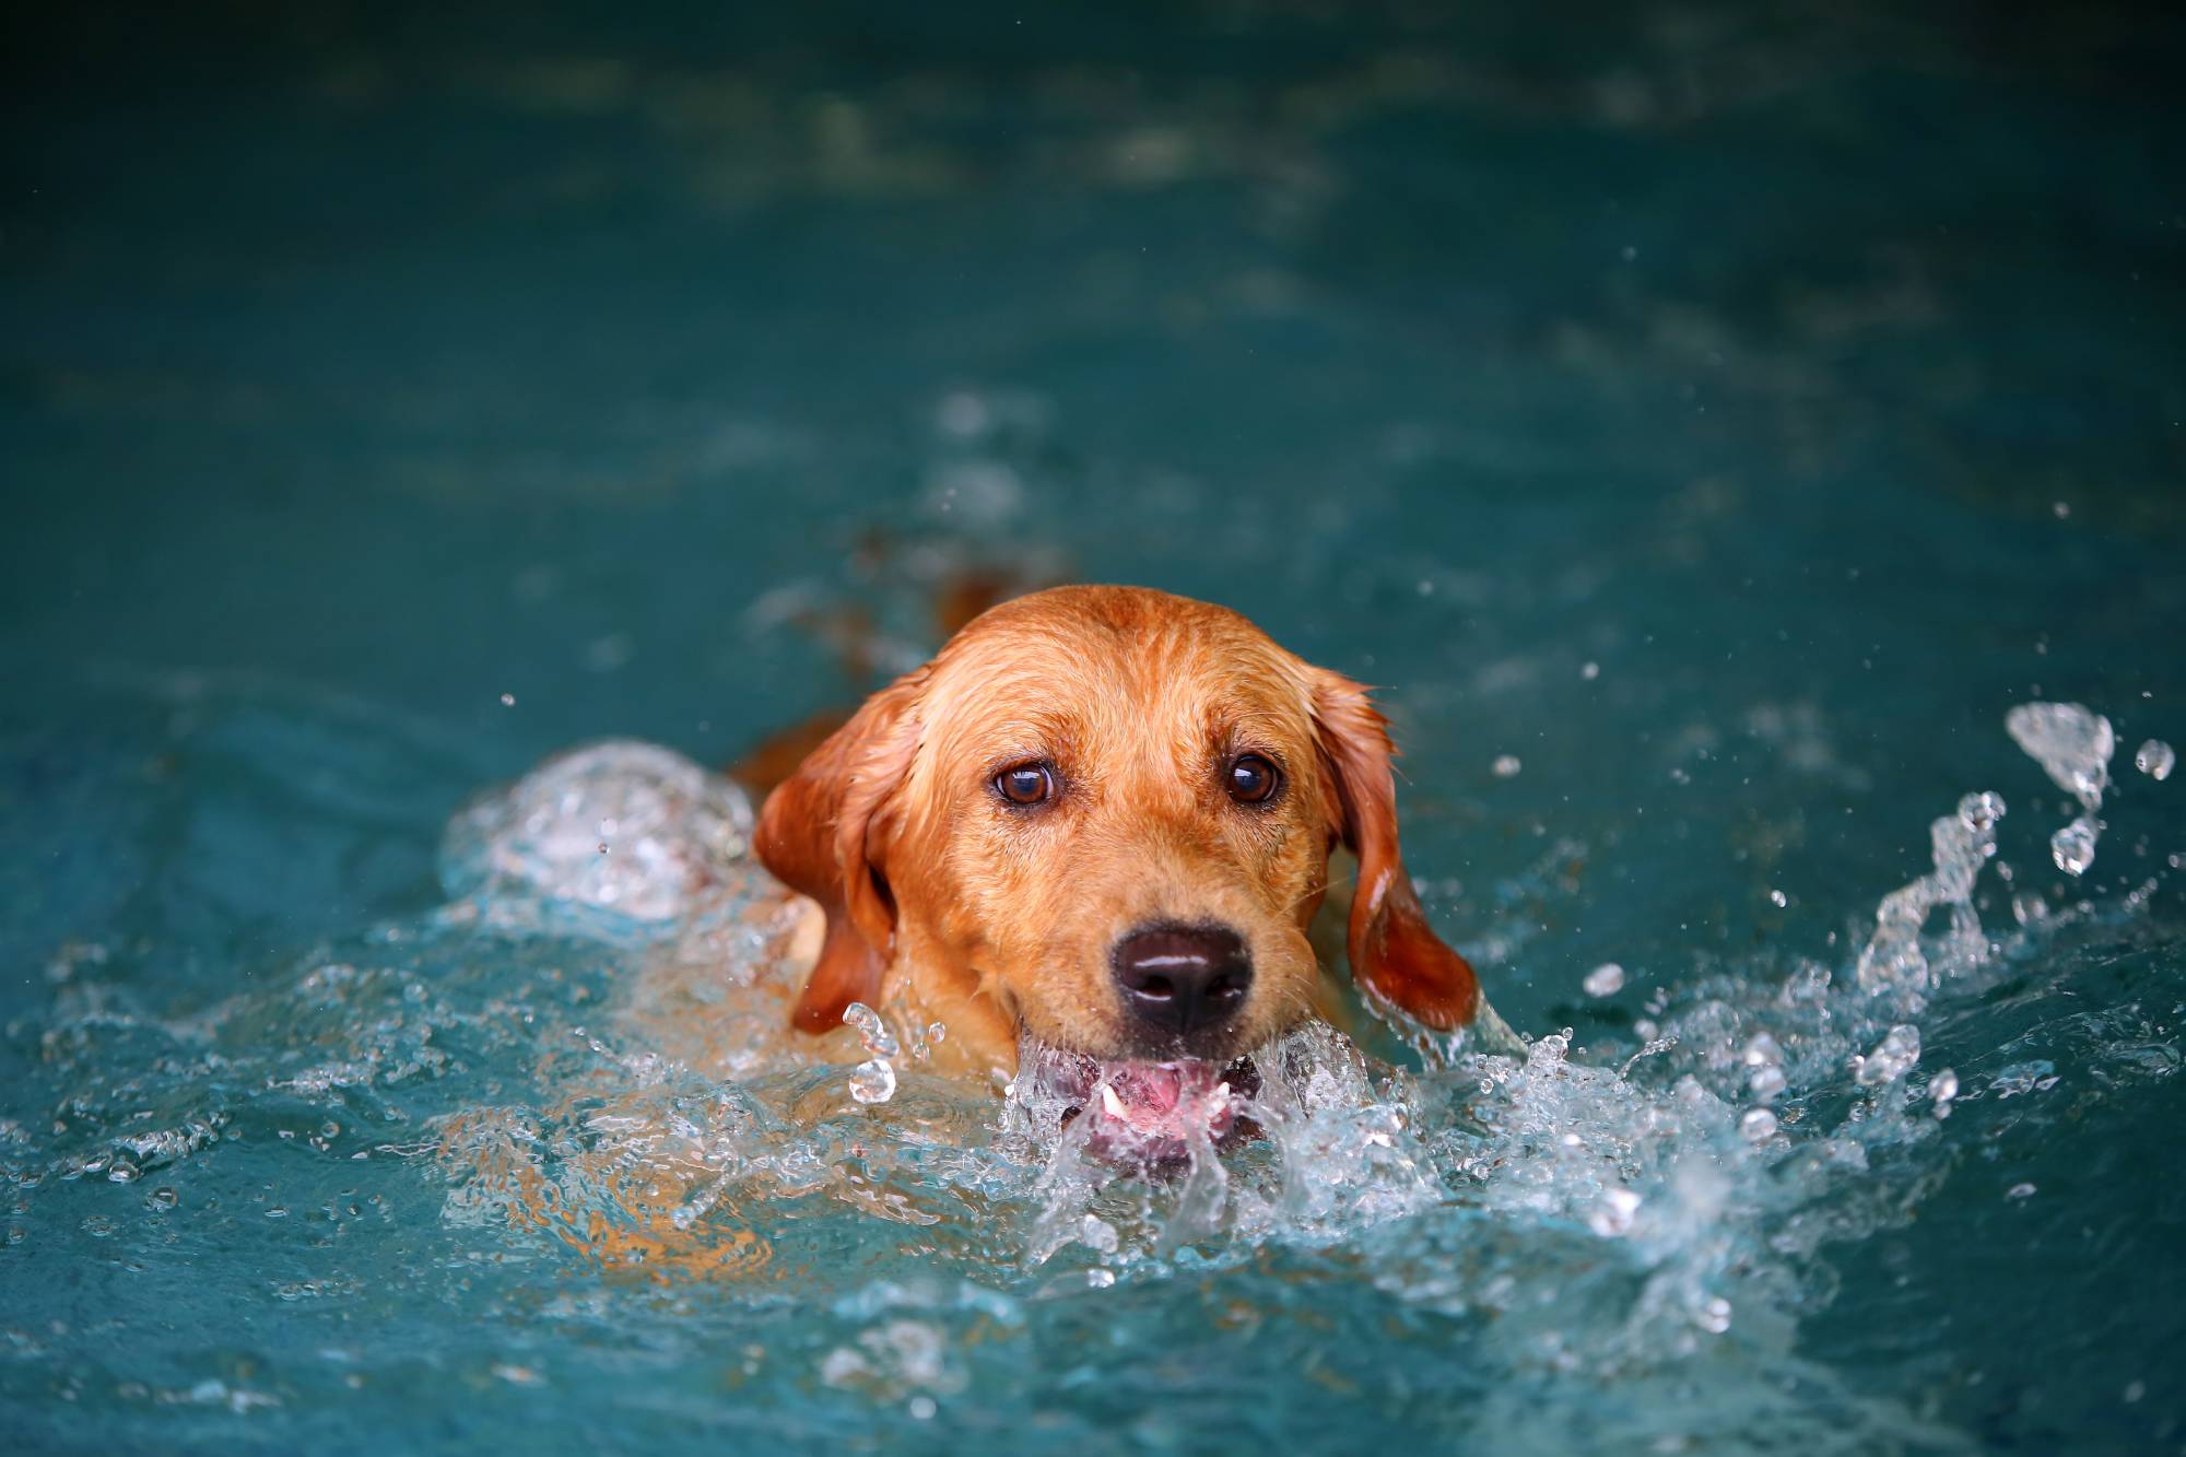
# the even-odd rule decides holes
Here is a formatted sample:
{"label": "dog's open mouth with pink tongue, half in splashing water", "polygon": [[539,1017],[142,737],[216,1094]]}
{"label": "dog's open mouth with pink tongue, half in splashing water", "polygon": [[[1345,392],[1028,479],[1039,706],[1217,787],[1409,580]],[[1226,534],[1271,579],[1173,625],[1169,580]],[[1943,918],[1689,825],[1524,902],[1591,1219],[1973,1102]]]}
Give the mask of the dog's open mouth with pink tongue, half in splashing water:
{"label": "dog's open mouth with pink tongue, half in splashing water", "polygon": [[1259,1131],[1244,1114],[1259,1094],[1250,1057],[1139,1063],[1041,1048],[1023,1059],[1021,1076],[1032,1076],[1034,1096],[1062,1103],[1062,1127],[1089,1120],[1095,1153],[1172,1159],[1194,1144],[1231,1146]]}

